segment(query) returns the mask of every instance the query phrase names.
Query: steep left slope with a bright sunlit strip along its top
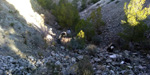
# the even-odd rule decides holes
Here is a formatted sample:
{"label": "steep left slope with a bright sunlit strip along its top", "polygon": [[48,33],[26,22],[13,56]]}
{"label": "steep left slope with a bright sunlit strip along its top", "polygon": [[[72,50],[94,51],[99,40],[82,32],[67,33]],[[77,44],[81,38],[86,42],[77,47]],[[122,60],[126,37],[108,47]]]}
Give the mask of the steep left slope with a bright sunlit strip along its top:
{"label": "steep left slope with a bright sunlit strip along its top", "polygon": [[51,14],[43,10],[36,0],[0,0],[0,54],[23,58],[25,55],[36,56],[36,52],[43,51],[43,38],[49,36],[52,40],[55,36],[51,24]]}

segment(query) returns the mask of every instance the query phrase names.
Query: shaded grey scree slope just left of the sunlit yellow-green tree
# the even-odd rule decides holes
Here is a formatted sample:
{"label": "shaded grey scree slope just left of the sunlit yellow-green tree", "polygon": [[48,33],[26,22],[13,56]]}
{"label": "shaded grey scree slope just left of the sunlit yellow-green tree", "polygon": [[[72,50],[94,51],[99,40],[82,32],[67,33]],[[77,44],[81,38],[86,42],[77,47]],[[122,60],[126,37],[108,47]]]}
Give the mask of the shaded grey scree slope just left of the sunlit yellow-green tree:
{"label": "shaded grey scree slope just left of the sunlit yellow-green tree", "polygon": [[[103,43],[109,44],[110,42],[116,42],[119,39],[118,32],[122,31],[121,20],[124,20],[124,3],[129,3],[130,0],[100,0],[99,2],[88,7],[84,11],[80,12],[80,16],[86,19],[92,10],[101,7],[102,19],[106,23],[106,26],[102,28],[101,39]],[[150,0],[146,0],[144,6],[148,7]],[[150,17],[149,17],[150,18]],[[150,25],[149,20],[146,21]]]}

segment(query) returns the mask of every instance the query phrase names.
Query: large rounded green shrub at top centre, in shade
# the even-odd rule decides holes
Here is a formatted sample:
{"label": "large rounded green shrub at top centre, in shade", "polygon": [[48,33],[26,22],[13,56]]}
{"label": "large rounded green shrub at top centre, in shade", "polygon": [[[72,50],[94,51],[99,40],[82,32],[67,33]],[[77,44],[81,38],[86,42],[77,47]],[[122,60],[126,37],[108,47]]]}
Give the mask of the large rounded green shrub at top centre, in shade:
{"label": "large rounded green shrub at top centre, in shade", "polygon": [[59,25],[65,28],[74,29],[80,17],[75,6],[67,1],[60,0],[59,4],[52,10]]}

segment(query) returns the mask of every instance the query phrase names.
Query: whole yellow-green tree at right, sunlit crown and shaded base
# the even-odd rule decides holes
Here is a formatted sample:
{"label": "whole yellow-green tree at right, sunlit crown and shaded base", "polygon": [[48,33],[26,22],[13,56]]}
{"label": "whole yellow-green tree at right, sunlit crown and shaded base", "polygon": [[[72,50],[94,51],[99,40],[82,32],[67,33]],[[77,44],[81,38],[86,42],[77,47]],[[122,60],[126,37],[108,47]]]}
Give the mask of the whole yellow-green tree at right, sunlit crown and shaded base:
{"label": "whole yellow-green tree at right, sunlit crown and shaded base", "polygon": [[[138,4],[137,4],[138,2]],[[122,20],[123,32],[119,35],[129,42],[141,42],[146,40],[145,32],[149,27],[143,22],[150,15],[147,7],[143,7],[145,0],[131,0],[124,5],[126,19]],[[135,11],[136,10],[136,11]]]}

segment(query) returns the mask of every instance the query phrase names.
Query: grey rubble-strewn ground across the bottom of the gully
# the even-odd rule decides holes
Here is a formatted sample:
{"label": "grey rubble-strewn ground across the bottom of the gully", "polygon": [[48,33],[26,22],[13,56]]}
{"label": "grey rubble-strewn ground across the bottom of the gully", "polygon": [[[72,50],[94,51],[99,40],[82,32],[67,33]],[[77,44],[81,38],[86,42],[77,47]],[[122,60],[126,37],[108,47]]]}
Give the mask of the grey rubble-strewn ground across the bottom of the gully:
{"label": "grey rubble-strewn ground across the bottom of the gully", "polygon": [[[36,59],[14,59],[0,55],[0,75],[78,75],[79,61],[88,55],[85,50],[69,51],[61,46],[58,50],[46,51],[48,57]],[[94,75],[149,75],[150,54],[139,51],[114,50],[108,52],[97,48],[88,62],[92,65]],[[82,63],[83,66],[86,63]],[[88,65],[89,66],[89,65]]]}

